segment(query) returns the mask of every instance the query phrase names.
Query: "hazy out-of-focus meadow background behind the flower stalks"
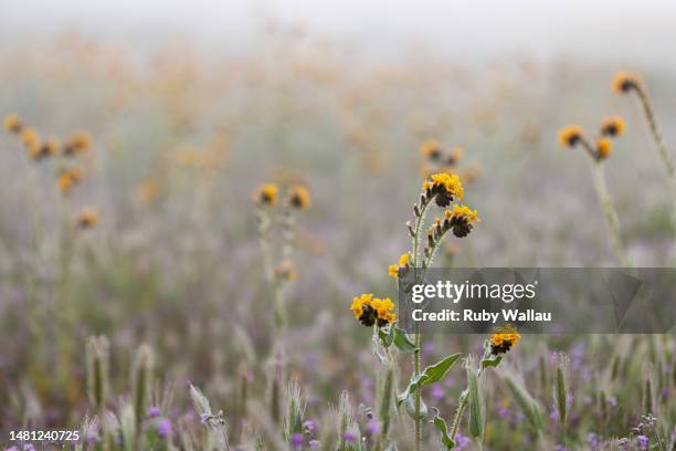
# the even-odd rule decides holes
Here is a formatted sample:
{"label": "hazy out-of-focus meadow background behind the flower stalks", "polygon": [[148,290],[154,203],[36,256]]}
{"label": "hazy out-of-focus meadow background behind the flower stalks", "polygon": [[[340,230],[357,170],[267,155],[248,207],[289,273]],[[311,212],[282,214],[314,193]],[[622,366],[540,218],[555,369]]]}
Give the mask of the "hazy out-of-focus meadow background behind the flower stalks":
{"label": "hazy out-of-focus meadow background behind the flower stalks", "polygon": [[[303,183],[313,199],[297,218],[287,374],[308,396],[308,418],[325,430],[334,428],[324,418],[341,390],[356,405],[372,406],[377,371],[369,334],[348,306],[362,292],[395,297],[387,266],[409,245],[404,224],[425,168],[419,147],[430,138],[464,150],[456,169],[466,181],[465,202],[482,217],[467,240],[444,251],[445,262],[614,266],[589,161],[580,149],[560,148],[557,133],[570,123],[594,130],[603,117],[622,116],[626,134],[604,167],[627,253],[636,265],[674,265],[676,192],[640,109],[611,91],[619,70],[642,74],[674,148],[676,65],[665,59],[665,38],[676,31],[664,35],[658,27],[668,17],[659,12],[673,12],[669,6],[655,2],[634,17],[630,30],[655,25],[645,39],[612,31],[614,18],[599,12],[601,3],[592,8],[595,15],[566,15],[572,23],[599,20],[598,32],[580,34],[571,24],[528,38],[570,42],[568,48],[528,46],[516,22],[508,22],[499,33],[513,27],[515,38],[504,41],[504,53],[499,38],[490,38],[496,19],[483,24],[480,8],[458,27],[480,29],[485,41],[472,44],[476,34],[467,35],[466,48],[443,40],[443,29],[427,40],[388,42],[387,23],[368,8],[365,17],[373,22],[361,19],[368,27],[351,36],[309,20],[252,14],[254,25],[246,33],[235,27],[230,40],[229,30],[158,33],[155,22],[144,29],[138,18],[123,29],[131,33],[116,34],[119,17],[108,23],[82,13],[88,21],[73,24],[59,22],[63,12],[54,23],[35,18],[44,30],[32,35],[18,28],[34,11],[2,6],[0,14],[6,8],[1,115],[17,113],[45,138],[86,130],[93,145],[76,160],[83,181],[64,196],[57,174],[71,160],[34,161],[15,136],[0,135],[0,428],[83,421],[92,411],[84,353],[91,335],[110,340],[112,406],[130,392],[134,354],[147,344],[156,353],[158,384],[176,388],[163,415],[177,424],[199,429],[199,418],[184,418],[192,415],[188,381],[223,408],[229,422],[240,421],[228,417],[236,411],[244,378],[258,403],[244,423],[263,428],[274,373],[272,307],[252,193],[266,181]],[[538,11],[527,23],[538,22]],[[619,11],[617,23],[630,23],[633,10]],[[194,15],[187,13],[187,21],[200,29]],[[205,19],[204,28],[214,21]],[[462,19],[448,17],[447,27],[457,36],[455,21]],[[136,42],[140,36],[146,40]],[[97,212],[95,227],[74,223],[84,209]],[[430,361],[476,349],[472,337],[440,336],[425,346]],[[578,449],[593,448],[590,433],[599,441],[626,437],[647,413],[651,378],[658,389],[647,396],[670,431],[675,347],[673,336],[526,336],[509,357],[549,412],[551,387],[542,368],[552,365],[552,352],[570,354],[578,417],[569,448]],[[615,360],[624,365],[620,376],[608,374]],[[448,416],[462,378],[430,395]],[[518,407],[490,382],[487,448],[528,449],[519,447],[535,439]],[[610,413],[602,410],[609,398]],[[606,405],[599,407],[600,399]],[[550,448],[542,449],[560,441],[554,420],[548,417]],[[402,421],[400,449],[412,449]],[[430,437],[435,449],[435,434]]]}

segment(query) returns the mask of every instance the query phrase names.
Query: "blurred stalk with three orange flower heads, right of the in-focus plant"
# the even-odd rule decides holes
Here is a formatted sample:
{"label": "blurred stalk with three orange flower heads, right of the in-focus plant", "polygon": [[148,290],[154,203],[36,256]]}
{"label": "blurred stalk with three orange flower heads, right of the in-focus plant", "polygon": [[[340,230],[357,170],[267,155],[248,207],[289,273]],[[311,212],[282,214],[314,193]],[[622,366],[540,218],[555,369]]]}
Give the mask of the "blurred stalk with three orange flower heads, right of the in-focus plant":
{"label": "blurred stalk with three orange flower heads, right of the in-focus plant", "polygon": [[611,242],[617,261],[623,266],[631,266],[632,261],[626,255],[624,250],[624,243],[620,233],[620,221],[617,219],[617,212],[613,207],[610,191],[608,189],[608,182],[605,181],[605,172],[603,170],[603,161],[605,161],[613,150],[613,141],[611,138],[615,138],[622,135],[624,132],[624,122],[620,117],[610,117],[603,120],[600,127],[598,138],[593,141],[584,135],[582,128],[570,125],[562,128],[559,132],[559,144],[562,147],[573,148],[582,147],[589,156],[591,162],[592,178],[594,181],[594,189],[601,203],[601,209],[605,216],[605,222],[611,237]]}

